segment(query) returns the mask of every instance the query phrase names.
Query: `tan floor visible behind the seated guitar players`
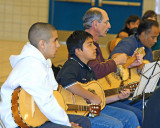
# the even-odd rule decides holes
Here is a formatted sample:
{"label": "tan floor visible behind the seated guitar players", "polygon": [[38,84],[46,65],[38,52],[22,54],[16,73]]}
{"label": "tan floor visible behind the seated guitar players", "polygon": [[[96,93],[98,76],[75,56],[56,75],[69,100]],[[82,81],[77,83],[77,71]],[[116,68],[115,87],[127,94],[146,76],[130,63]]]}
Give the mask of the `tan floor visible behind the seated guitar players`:
{"label": "tan floor visible behind the seated guitar players", "polygon": [[[67,47],[63,42],[61,43],[61,47],[58,49],[57,55],[52,62],[55,65],[61,64],[67,60]],[[18,55],[26,42],[13,42],[13,41],[0,41],[0,86],[7,79],[9,73],[12,70],[12,67],[9,62],[9,57],[11,55]],[[108,52],[106,50],[106,46],[104,44],[100,45],[102,49],[102,53],[105,58],[108,57]]]}

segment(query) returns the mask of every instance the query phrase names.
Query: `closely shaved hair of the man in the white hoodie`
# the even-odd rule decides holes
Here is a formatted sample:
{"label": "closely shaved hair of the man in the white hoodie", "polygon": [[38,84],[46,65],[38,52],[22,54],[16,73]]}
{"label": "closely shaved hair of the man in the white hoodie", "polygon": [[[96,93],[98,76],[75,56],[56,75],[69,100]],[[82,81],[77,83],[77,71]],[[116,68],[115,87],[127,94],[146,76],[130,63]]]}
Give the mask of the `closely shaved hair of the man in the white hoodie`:
{"label": "closely shaved hair of the man in the white hoodie", "polygon": [[52,38],[51,32],[55,30],[55,27],[49,23],[34,23],[28,31],[28,40],[37,48],[40,40],[45,40],[48,43],[50,38]]}

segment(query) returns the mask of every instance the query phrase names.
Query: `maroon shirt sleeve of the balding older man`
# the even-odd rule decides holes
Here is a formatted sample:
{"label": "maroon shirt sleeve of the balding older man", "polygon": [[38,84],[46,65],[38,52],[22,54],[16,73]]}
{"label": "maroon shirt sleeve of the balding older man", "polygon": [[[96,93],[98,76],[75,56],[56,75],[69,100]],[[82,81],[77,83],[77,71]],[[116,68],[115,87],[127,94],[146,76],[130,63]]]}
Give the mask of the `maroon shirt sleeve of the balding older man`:
{"label": "maroon shirt sleeve of the balding older man", "polygon": [[105,77],[111,72],[116,72],[117,66],[114,60],[108,60],[106,62],[100,62],[97,59],[89,61],[89,66],[92,67],[97,79]]}

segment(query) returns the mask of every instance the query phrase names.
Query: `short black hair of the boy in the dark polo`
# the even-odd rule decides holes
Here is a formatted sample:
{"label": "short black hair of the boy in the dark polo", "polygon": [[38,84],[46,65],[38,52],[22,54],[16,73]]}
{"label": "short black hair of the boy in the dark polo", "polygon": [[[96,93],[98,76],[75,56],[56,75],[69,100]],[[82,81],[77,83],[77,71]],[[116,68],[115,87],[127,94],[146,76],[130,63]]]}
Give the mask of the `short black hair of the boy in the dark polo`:
{"label": "short black hair of the boy in the dark polo", "polygon": [[86,31],[82,30],[74,31],[66,41],[69,56],[75,54],[76,48],[83,50],[83,44],[87,38],[93,39],[93,36]]}

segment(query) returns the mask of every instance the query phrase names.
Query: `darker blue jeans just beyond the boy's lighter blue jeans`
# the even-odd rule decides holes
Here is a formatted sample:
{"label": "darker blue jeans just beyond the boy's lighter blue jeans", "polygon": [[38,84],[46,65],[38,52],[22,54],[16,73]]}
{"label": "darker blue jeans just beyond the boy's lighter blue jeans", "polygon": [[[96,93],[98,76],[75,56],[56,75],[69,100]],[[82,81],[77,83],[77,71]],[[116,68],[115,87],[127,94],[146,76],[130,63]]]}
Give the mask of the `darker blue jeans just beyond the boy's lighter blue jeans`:
{"label": "darker blue jeans just beyond the boy's lighter blue jeans", "polygon": [[137,102],[132,106],[129,104],[130,102],[131,102],[130,100],[115,102],[115,103],[109,104],[109,106],[114,106],[114,107],[132,111],[137,116],[140,126],[142,126],[142,101]]}

